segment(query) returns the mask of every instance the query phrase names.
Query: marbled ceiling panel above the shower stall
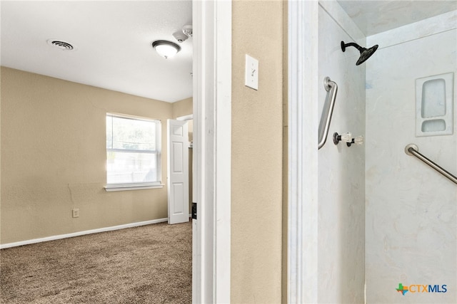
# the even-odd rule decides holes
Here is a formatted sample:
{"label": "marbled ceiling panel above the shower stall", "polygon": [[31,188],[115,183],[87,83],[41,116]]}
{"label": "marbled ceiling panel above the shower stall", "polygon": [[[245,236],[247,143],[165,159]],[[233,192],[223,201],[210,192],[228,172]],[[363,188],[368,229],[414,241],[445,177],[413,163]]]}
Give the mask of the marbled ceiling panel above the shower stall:
{"label": "marbled ceiling panel above the shower stall", "polygon": [[365,36],[371,36],[457,9],[456,0],[338,0],[338,3]]}

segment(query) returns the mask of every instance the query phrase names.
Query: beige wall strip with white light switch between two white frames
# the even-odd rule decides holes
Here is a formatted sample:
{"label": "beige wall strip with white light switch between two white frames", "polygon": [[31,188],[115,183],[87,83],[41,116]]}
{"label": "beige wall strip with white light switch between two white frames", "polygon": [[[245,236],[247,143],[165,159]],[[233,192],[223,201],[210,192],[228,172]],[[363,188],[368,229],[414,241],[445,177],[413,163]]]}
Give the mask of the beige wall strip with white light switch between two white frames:
{"label": "beige wall strip with white light switch between two white frames", "polygon": [[[281,303],[283,2],[232,6],[231,302]],[[246,53],[258,90],[244,86]]]}

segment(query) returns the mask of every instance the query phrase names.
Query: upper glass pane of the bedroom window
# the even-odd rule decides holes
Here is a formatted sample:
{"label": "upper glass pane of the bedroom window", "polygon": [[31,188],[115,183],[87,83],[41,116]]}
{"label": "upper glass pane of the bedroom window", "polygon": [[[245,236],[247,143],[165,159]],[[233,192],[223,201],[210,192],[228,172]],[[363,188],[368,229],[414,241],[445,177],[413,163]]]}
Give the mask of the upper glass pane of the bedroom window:
{"label": "upper glass pane of the bedroom window", "polygon": [[155,122],[116,116],[111,119],[112,149],[156,150]]}

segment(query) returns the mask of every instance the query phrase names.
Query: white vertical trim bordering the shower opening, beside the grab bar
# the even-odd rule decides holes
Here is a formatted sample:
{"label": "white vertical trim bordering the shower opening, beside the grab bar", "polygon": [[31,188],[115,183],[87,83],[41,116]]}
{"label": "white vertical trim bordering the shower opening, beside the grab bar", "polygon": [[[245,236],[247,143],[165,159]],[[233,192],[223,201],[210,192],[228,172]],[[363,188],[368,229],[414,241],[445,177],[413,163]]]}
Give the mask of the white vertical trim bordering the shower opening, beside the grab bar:
{"label": "white vertical trim bordering the shower opening, beside the grab bar", "polygon": [[318,303],[318,82],[318,1],[288,1],[288,303]]}

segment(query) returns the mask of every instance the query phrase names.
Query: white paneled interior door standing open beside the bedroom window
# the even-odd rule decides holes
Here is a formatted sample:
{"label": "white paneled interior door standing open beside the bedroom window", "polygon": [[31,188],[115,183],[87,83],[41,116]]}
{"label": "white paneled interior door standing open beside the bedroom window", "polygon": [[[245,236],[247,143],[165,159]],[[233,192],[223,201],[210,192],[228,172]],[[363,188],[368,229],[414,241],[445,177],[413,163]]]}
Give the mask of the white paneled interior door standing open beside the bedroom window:
{"label": "white paneled interior door standing open beside the bedroom window", "polygon": [[169,224],[189,221],[189,131],[186,121],[167,120]]}

